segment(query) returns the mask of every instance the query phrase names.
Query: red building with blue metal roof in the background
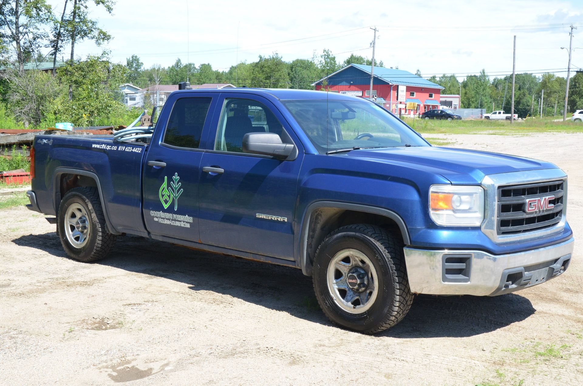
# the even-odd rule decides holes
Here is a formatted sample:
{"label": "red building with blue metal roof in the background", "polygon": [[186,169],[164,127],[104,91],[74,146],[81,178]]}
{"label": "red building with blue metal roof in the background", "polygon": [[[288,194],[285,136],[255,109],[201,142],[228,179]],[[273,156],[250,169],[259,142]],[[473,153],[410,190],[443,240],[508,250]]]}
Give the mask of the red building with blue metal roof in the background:
{"label": "red building with blue metal roof in the background", "polygon": [[[330,92],[364,98],[370,93],[371,66],[349,64],[312,83],[316,90],[325,87]],[[432,108],[440,108],[440,93],[444,87],[436,85],[409,71],[376,67],[373,75],[373,96],[377,103],[399,115],[416,115]]]}

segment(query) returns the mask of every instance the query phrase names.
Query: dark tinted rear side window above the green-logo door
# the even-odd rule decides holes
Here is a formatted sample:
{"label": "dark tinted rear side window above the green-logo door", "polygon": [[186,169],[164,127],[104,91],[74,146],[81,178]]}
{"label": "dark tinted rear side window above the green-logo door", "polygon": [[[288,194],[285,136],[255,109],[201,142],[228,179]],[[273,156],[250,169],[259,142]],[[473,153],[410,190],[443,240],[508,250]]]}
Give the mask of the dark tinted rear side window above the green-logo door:
{"label": "dark tinted rear side window above the green-logo door", "polygon": [[180,98],[172,107],[163,143],[179,148],[198,149],[211,98]]}

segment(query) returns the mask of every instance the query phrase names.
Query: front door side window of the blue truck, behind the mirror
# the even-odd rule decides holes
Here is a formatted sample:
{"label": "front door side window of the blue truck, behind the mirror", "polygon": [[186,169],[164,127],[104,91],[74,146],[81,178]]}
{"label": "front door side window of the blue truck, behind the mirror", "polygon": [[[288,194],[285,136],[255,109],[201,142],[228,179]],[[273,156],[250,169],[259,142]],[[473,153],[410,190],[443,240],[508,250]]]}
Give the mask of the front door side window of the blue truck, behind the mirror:
{"label": "front door side window of the blue truck, behind the mirror", "polygon": [[217,129],[215,150],[243,153],[243,137],[255,132],[282,136],[283,127],[262,103],[250,99],[226,99]]}

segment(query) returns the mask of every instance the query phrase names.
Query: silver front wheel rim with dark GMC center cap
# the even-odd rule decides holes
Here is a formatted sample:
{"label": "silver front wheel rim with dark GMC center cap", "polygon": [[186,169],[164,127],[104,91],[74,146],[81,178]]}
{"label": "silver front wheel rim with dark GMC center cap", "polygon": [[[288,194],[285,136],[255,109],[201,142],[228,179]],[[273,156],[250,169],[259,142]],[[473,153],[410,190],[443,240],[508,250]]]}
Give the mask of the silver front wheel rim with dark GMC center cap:
{"label": "silver front wheel rim with dark GMC center cap", "polygon": [[377,271],[361,251],[345,249],[336,253],[326,276],[334,303],[348,313],[361,314],[377,299]]}

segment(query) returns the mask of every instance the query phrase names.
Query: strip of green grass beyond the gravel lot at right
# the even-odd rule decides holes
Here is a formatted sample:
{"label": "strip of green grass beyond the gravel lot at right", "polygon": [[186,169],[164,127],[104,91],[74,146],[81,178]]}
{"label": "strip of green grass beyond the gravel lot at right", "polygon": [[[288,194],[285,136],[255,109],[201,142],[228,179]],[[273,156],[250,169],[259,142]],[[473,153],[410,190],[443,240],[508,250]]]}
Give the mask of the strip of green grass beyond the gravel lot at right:
{"label": "strip of green grass beyond the gravel lot at right", "polygon": [[548,118],[528,118],[510,124],[508,121],[488,120],[421,120],[405,118],[404,121],[421,134],[498,134],[498,135],[528,135],[543,132],[578,132],[583,133],[583,123],[567,120],[554,122]]}

